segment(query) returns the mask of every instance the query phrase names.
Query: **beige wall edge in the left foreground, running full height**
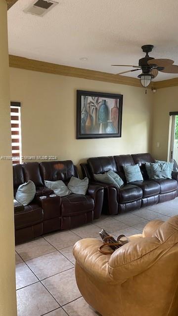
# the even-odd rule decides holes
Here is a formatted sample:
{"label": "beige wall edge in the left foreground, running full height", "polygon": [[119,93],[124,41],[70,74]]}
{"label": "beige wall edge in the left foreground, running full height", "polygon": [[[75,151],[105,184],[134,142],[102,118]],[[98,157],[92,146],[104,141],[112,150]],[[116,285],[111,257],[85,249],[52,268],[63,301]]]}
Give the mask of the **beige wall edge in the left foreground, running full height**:
{"label": "beige wall edge in the left foreground, running full height", "polygon": [[[0,0],[0,156],[11,155],[7,4]],[[12,161],[0,159],[0,316],[16,316]]]}

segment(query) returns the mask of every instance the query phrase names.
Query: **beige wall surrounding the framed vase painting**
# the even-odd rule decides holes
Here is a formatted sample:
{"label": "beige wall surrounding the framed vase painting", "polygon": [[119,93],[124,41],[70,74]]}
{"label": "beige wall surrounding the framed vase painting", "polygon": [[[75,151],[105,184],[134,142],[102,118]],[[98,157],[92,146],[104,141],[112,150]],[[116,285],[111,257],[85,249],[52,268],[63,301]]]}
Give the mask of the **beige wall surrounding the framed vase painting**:
{"label": "beige wall surrounding the framed vase painting", "polygon": [[[122,137],[76,139],[76,90],[124,95]],[[79,164],[89,157],[149,151],[150,89],[10,68],[10,98],[21,101],[22,155],[57,155]]]}

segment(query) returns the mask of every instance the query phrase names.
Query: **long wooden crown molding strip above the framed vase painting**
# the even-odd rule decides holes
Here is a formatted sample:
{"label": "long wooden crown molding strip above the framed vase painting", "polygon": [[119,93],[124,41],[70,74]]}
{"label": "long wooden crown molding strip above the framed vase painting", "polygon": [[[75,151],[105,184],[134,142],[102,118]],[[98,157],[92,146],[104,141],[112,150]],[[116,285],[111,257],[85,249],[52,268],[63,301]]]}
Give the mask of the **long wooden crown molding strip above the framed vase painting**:
{"label": "long wooden crown molding strip above the framed vase painting", "polygon": [[[49,73],[54,75],[62,75],[69,77],[84,78],[97,81],[105,81],[119,84],[127,84],[135,87],[142,87],[139,79],[126,77],[126,76],[114,76],[113,74],[103,73],[100,71],[63,66],[58,64],[51,64],[34,59],[28,59],[19,56],[9,55],[9,66],[14,68],[38,71],[43,73]],[[151,86],[150,86],[151,87]]]}

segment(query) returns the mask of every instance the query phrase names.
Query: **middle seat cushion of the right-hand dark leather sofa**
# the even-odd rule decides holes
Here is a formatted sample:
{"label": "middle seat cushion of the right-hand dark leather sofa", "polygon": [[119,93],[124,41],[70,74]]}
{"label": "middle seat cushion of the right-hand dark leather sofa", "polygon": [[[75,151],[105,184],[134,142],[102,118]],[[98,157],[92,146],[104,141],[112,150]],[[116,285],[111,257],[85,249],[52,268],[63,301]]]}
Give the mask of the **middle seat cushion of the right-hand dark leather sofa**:
{"label": "middle seat cushion of the right-hand dark leather sofa", "polygon": [[160,193],[160,185],[155,181],[134,181],[131,184],[141,188],[141,190],[143,191],[143,197],[152,197]]}

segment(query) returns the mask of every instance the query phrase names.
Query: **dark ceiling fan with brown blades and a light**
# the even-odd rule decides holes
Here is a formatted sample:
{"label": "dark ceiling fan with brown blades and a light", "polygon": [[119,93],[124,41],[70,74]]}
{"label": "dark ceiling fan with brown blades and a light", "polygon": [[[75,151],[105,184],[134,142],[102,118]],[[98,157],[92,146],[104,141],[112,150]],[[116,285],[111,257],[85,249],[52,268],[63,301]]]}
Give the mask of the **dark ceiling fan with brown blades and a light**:
{"label": "dark ceiling fan with brown blades and a light", "polygon": [[167,74],[178,74],[178,65],[173,65],[174,60],[172,59],[163,59],[158,58],[155,59],[153,57],[149,57],[148,53],[152,51],[153,45],[143,45],[141,46],[144,53],[146,53],[145,57],[139,59],[138,66],[132,65],[111,65],[111,66],[122,66],[122,67],[133,67],[136,69],[131,69],[128,71],[124,71],[122,73],[116,75],[122,75],[134,71],[141,70],[142,74],[138,75],[140,79],[140,83],[143,87],[147,87],[151,79],[156,78],[158,72],[167,73]]}

